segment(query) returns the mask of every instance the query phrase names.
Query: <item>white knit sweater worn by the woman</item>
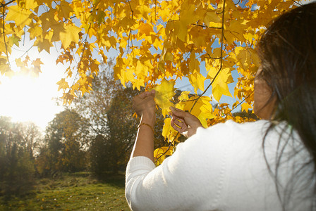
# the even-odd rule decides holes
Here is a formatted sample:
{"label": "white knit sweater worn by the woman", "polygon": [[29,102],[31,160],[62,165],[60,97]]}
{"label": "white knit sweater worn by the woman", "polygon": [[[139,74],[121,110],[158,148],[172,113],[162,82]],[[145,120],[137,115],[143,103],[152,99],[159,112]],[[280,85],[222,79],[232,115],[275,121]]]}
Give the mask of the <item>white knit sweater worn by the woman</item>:
{"label": "white knit sweater worn by the woman", "polygon": [[[284,126],[284,124],[282,124]],[[257,121],[237,124],[228,121],[197,133],[179,143],[176,152],[155,167],[146,157],[130,159],[126,169],[126,199],[132,210],[282,210],[274,177],[267,168],[262,140],[269,122]],[[288,131],[278,127],[265,139],[265,155],[274,172],[277,152],[283,152],[279,167],[281,200],[286,210],[307,210],[310,205],[303,194],[306,176],[304,170],[293,188],[291,196],[283,187],[309,156],[296,134],[292,134],[286,147],[279,134],[288,140]],[[303,149],[293,155],[293,149]],[[310,184],[312,187],[313,184]],[[291,187],[291,186],[288,186]],[[288,198],[287,198],[288,197]]]}

